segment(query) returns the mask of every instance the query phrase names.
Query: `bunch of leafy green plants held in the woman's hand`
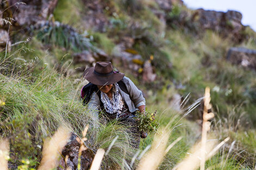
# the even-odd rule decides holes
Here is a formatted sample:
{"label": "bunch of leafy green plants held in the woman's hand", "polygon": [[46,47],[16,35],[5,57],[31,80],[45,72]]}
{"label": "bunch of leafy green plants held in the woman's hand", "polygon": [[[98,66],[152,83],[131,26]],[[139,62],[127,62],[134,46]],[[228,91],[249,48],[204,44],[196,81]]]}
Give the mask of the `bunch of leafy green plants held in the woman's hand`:
{"label": "bunch of leafy green plants held in the woman's hand", "polygon": [[156,132],[157,128],[159,128],[159,123],[155,120],[156,111],[154,113],[150,113],[145,111],[144,113],[136,112],[136,118],[138,121],[138,128],[141,131],[151,133]]}

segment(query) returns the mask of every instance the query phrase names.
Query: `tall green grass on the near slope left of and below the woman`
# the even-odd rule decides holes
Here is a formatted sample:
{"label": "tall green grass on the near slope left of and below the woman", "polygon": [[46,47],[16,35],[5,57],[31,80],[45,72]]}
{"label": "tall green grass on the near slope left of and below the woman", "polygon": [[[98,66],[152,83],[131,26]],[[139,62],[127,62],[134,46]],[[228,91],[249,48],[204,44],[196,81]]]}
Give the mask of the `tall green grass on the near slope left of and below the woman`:
{"label": "tall green grass on the near slope left of and below the woman", "polygon": [[[16,59],[1,56],[0,60],[0,98],[5,102],[0,108],[0,130],[2,137],[10,138],[11,163],[20,165],[22,158],[40,160],[40,146],[45,137],[54,134],[60,126],[81,134],[86,124],[90,124],[87,138],[93,150],[107,150],[115,136],[119,136],[103,165],[121,164],[126,155],[120,158],[119,153],[131,155],[125,128],[95,121],[94,115],[82,105],[79,92],[83,79],[74,85],[71,79],[47,65],[31,60],[15,62]],[[30,166],[38,166],[35,164]]]}

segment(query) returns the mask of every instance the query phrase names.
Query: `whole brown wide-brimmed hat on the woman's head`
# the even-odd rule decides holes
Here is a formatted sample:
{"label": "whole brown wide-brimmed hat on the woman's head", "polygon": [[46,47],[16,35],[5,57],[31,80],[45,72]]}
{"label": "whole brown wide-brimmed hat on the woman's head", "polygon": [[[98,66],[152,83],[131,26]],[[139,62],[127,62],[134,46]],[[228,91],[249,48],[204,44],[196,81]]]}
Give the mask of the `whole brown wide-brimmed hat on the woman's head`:
{"label": "whole brown wide-brimmed hat on the woman's head", "polygon": [[124,78],[124,73],[114,72],[111,62],[99,61],[95,67],[90,67],[83,73],[83,77],[95,85],[114,84]]}

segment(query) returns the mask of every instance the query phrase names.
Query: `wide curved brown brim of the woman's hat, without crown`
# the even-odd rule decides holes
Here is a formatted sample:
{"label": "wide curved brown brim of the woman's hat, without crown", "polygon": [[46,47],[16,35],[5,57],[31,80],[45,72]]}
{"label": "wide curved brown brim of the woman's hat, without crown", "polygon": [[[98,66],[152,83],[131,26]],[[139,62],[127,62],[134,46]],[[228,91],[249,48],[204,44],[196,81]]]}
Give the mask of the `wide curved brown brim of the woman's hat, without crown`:
{"label": "wide curved brown brim of the woman's hat, without crown", "polygon": [[94,67],[88,68],[83,73],[83,77],[90,81],[90,83],[100,86],[117,83],[124,78],[124,75],[124,73],[113,73],[108,76],[98,75],[94,73]]}

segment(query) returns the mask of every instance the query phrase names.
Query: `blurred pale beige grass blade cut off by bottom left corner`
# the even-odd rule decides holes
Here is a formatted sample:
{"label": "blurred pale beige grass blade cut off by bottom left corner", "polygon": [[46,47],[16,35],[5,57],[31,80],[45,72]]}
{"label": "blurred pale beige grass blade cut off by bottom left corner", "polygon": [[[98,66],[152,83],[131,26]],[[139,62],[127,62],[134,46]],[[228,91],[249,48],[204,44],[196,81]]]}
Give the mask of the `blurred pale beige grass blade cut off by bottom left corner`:
{"label": "blurred pale beige grass blade cut off by bottom left corner", "polygon": [[8,159],[9,159],[9,141],[4,139],[0,141],[0,169],[8,169]]}

